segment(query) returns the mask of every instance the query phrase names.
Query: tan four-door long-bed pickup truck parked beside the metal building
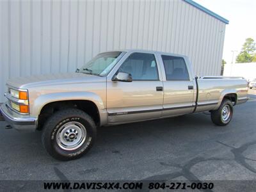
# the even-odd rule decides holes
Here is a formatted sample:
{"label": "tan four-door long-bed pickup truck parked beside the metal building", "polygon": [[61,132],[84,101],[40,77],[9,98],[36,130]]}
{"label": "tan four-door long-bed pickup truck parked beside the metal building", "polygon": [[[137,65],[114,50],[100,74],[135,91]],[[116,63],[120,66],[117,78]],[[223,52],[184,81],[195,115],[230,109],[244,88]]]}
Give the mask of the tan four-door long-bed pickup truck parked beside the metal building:
{"label": "tan four-door long-bed pickup truck parked beside the metal building", "polygon": [[6,122],[42,130],[47,152],[63,161],[88,152],[100,126],[204,111],[223,126],[248,100],[243,78],[195,77],[186,56],[141,50],[103,52],[74,73],[19,77],[7,86]]}

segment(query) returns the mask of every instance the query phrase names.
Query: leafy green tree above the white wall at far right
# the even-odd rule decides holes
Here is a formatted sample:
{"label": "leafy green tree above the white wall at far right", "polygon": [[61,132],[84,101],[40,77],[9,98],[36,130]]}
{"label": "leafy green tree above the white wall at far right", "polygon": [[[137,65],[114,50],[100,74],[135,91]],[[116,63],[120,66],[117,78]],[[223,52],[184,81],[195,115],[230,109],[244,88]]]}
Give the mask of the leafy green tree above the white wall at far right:
{"label": "leafy green tree above the white wall at far right", "polygon": [[237,63],[250,63],[256,60],[255,57],[256,44],[252,38],[246,38],[241,52],[237,55]]}

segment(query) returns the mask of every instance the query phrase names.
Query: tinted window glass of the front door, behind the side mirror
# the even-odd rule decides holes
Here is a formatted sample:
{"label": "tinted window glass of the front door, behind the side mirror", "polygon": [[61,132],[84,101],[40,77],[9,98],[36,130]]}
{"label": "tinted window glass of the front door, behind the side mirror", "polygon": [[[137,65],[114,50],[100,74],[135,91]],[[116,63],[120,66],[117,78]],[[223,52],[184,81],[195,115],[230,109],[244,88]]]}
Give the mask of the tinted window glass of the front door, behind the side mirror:
{"label": "tinted window glass of the front door, behind the side mirror", "polygon": [[154,54],[134,52],[119,68],[119,72],[132,75],[132,80],[158,80]]}

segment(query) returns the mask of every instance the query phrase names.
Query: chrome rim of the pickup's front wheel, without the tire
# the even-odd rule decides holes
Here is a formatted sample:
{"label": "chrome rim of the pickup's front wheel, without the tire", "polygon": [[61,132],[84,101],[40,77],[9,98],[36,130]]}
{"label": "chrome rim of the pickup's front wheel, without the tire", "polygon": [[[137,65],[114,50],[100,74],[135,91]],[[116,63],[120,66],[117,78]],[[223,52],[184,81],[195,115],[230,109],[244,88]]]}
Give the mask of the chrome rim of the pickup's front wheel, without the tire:
{"label": "chrome rim of the pickup's front wheel, without the tire", "polygon": [[63,150],[76,150],[86,140],[86,129],[79,122],[68,122],[56,134],[58,146]]}

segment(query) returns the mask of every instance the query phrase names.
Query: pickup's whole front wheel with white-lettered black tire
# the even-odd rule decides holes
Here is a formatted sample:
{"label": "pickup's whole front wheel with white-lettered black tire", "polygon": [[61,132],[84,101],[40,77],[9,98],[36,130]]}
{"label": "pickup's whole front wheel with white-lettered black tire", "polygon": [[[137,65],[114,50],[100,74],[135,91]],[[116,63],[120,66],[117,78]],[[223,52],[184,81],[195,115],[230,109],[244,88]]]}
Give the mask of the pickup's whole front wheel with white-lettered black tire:
{"label": "pickup's whole front wheel with white-lettered black tire", "polygon": [[54,158],[68,161],[77,159],[96,139],[93,119],[79,109],[65,109],[54,113],[45,123],[42,143]]}

